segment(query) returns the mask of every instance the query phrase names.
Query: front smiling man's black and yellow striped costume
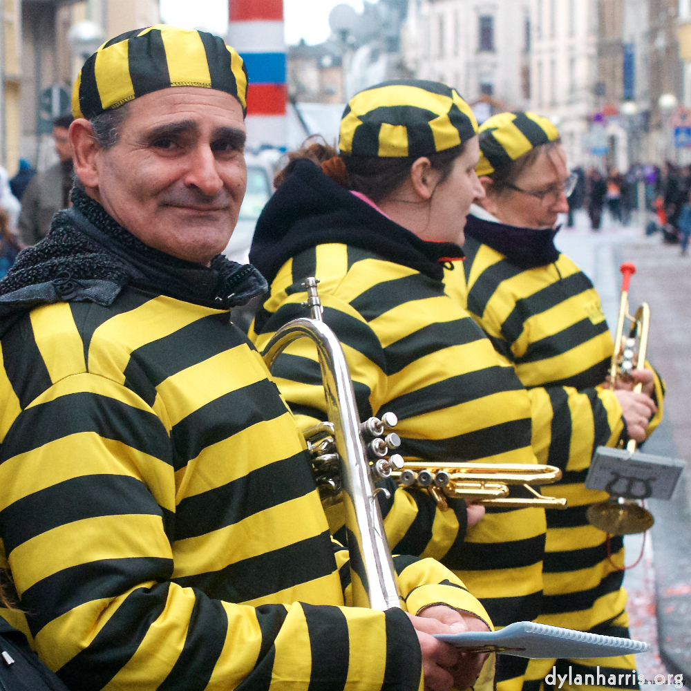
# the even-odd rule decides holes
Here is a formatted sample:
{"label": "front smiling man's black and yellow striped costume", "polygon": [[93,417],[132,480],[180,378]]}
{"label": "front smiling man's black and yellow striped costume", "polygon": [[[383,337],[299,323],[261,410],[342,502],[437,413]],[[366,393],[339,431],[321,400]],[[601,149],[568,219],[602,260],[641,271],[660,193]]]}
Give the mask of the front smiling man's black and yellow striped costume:
{"label": "front smiling man's black and yellow striped costume", "polygon": [[[73,199],[69,218],[108,218],[84,193]],[[141,275],[93,302],[110,269],[91,280],[72,266],[91,271],[84,258],[108,252],[69,214],[1,288],[2,309],[17,308],[0,321],[0,558],[20,609],[0,614],[75,690],[417,689],[406,614],[344,606],[348,552],[330,538],[290,410],[229,310],[149,290]],[[100,231],[164,283],[180,279],[180,260],[112,220]],[[74,254],[50,276],[44,260],[66,246]],[[67,301],[23,310],[27,292],[55,291]],[[434,560],[397,567],[410,612],[444,602],[487,618]]]}

